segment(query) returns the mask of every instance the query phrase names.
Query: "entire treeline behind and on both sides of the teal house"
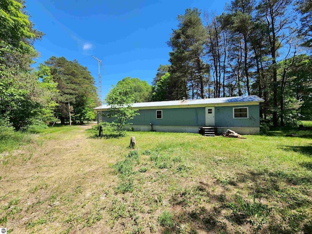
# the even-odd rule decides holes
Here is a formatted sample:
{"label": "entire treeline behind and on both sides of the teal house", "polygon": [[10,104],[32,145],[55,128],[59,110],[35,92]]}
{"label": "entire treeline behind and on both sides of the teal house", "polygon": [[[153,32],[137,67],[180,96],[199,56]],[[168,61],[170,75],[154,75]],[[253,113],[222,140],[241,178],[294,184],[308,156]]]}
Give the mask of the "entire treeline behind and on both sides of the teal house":
{"label": "entire treeline behind and on both sides of the teal house", "polygon": [[[34,28],[24,0],[0,1],[0,131],[95,117],[95,81],[77,60],[51,57],[36,69]],[[312,118],[312,0],[233,0],[224,12],[186,9],[152,87],[124,78],[134,101],[257,95],[273,126]],[[111,91],[112,92],[112,91]],[[2,135],[1,135],[2,136]]]}

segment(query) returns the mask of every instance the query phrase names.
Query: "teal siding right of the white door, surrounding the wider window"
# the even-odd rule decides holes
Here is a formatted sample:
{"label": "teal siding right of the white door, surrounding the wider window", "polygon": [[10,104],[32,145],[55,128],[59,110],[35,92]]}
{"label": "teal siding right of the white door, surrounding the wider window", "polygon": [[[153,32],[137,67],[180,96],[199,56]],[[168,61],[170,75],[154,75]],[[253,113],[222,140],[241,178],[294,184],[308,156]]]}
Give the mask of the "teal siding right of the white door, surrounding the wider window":
{"label": "teal siding right of the white door, surrounding the wider window", "polygon": [[[248,107],[249,118],[233,118],[234,107]],[[219,111],[218,111],[219,110]],[[219,127],[259,127],[259,105],[217,106],[215,107],[215,126]]]}

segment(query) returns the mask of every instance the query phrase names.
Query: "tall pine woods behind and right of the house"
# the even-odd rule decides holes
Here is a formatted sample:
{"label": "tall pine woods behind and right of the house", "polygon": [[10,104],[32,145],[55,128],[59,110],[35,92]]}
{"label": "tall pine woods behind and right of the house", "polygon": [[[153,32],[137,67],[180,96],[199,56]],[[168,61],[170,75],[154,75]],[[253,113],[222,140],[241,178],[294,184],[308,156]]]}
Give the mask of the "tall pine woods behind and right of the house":
{"label": "tall pine woods behind and right of the house", "polygon": [[312,0],[233,0],[177,20],[150,100],[257,95],[273,126],[312,118]]}

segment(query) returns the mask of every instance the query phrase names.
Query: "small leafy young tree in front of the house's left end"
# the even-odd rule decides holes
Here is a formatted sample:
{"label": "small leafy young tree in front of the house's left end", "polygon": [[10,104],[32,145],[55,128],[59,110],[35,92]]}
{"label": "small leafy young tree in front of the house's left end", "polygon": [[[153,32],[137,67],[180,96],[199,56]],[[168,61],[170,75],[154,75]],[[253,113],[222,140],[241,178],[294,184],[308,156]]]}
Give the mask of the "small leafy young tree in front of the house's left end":
{"label": "small leafy young tree in front of the house's left end", "polygon": [[106,97],[107,104],[110,105],[108,118],[112,119],[112,122],[106,123],[114,128],[119,137],[125,136],[126,128],[132,124],[129,122],[138,113],[131,108],[134,102],[134,97],[131,94],[129,87],[121,87],[118,89],[112,89]]}

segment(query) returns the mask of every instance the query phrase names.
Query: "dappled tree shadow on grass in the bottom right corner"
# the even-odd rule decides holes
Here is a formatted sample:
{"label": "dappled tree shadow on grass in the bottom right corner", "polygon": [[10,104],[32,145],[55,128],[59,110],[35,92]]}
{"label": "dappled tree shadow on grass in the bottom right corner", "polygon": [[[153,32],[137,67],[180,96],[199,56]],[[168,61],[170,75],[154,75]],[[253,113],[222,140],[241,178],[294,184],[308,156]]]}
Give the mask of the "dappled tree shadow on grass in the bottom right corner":
{"label": "dappled tree shadow on grass in the bottom right corner", "polygon": [[[302,166],[311,169],[312,163]],[[175,225],[164,227],[163,233],[311,233],[311,174],[262,169],[234,177],[234,185],[198,182],[192,196],[181,192],[171,203],[182,210],[174,216]],[[218,188],[216,193],[212,187]],[[231,191],[247,194],[233,196]],[[209,207],[196,206],[193,196],[207,197]]]}

